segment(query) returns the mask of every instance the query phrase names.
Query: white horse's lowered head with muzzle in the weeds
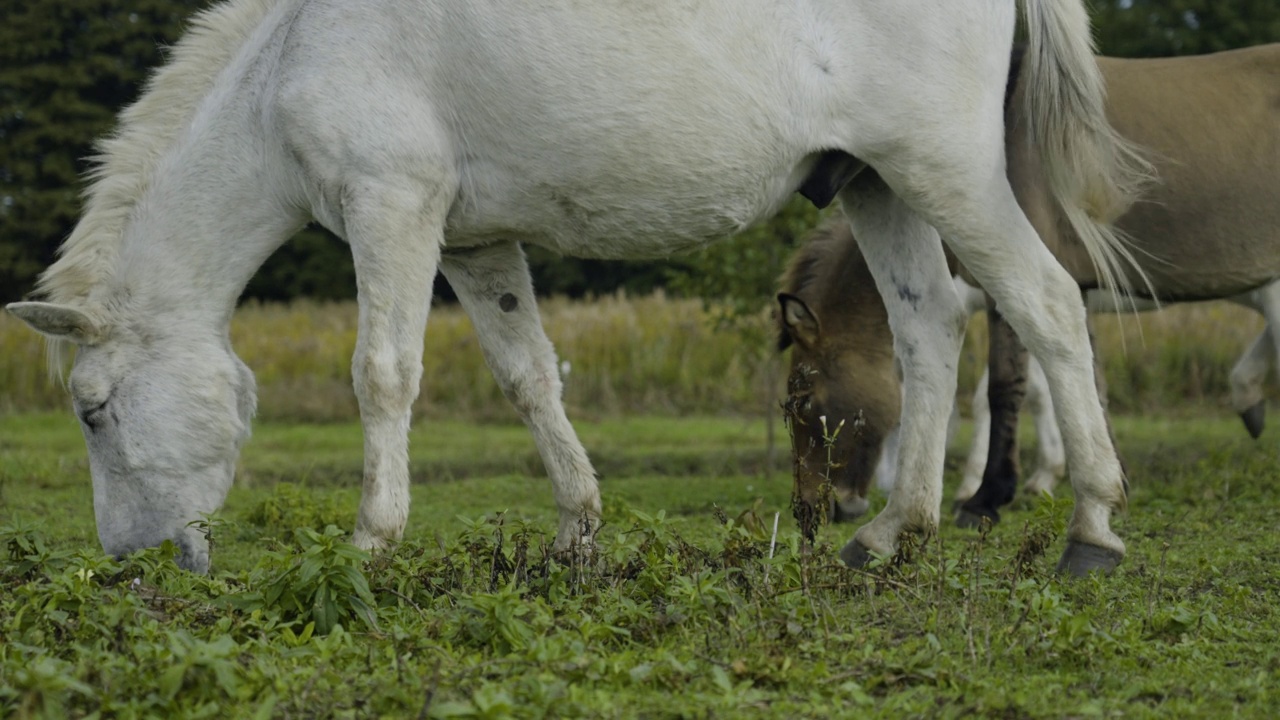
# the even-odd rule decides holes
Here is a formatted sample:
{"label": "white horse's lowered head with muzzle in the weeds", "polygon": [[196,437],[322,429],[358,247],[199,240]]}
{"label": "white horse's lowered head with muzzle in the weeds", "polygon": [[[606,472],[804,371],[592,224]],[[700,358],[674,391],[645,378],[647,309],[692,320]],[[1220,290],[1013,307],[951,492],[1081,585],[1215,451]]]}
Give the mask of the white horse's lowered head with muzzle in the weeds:
{"label": "white horse's lowered head with muzzle in the weeds", "polygon": [[88,446],[102,548],[122,556],[168,539],[179,565],[207,571],[207,538],[193,523],[225,500],[256,405],[253,374],[225,334],[143,329],[52,302],[9,310],[77,347],[68,386]]}

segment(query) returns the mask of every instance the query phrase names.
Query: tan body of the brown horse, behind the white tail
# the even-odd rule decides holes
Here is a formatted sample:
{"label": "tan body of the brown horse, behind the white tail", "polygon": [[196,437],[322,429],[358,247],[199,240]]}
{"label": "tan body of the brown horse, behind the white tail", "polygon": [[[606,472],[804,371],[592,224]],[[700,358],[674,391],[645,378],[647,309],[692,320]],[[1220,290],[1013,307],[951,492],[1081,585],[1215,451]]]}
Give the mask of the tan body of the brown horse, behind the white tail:
{"label": "tan body of the brown horse, behind the white tail", "polygon": [[[1098,67],[1107,117],[1160,170],[1160,183],[1116,223],[1160,300],[1229,297],[1280,277],[1280,44],[1188,58],[1098,58]],[[1097,286],[1043,192],[1034,149],[1016,141],[1016,106],[1010,117],[1018,132],[1007,146],[1014,192],[1071,275]]]}

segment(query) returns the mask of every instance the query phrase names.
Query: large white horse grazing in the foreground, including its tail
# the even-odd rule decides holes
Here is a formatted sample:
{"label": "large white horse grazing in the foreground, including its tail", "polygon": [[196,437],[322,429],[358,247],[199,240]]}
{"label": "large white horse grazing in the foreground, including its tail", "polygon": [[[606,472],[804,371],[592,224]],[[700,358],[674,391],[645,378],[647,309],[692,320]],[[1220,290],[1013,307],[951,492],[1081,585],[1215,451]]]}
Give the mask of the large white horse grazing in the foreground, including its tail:
{"label": "large white horse grazing in the foreground, including its tail", "polygon": [[[1094,223],[1128,206],[1143,168],[1105,119],[1080,0],[1024,5],[1037,146],[1092,256],[1119,275],[1124,249]],[[596,479],[520,242],[666,256],[799,190],[841,200],[906,378],[906,480],[842,557],[865,562],[938,523],[965,318],[938,228],[1053,388],[1076,491],[1064,566],[1110,569],[1125,497],[1084,309],[1005,178],[1015,14],[989,0],[230,0],[202,13],[102,145],[40,300],[9,306],[78,348],[69,387],[102,546],[173,539],[182,565],[207,569],[191,523],[221,506],[256,402],[228,323],[255,269],[311,219],[351,245],[357,273],[355,542],[404,529],[436,272],[532,430],[556,548],[584,542]]]}

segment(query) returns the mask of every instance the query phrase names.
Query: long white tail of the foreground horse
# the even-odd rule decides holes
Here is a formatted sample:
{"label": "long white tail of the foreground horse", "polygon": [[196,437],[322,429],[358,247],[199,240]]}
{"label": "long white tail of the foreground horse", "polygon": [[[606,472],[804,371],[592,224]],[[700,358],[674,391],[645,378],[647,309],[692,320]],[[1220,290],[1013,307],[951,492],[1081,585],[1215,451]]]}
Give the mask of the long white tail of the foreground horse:
{"label": "long white tail of the foreground horse", "polygon": [[1121,296],[1133,291],[1126,269],[1148,293],[1152,286],[1124,234],[1110,223],[1138,200],[1156,170],[1107,120],[1105,81],[1083,1],[1023,4],[1028,31],[1021,94],[1025,127],[1039,151],[1053,200],[1089,254],[1100,284],[1119,306]]}

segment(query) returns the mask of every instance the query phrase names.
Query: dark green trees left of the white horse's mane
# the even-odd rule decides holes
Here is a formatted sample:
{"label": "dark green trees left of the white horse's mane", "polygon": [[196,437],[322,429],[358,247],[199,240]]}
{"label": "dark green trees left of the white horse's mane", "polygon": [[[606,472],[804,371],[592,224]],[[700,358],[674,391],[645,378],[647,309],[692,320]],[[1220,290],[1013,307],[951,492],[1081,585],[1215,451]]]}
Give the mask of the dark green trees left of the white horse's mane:
{"label": "dark green trees left of the white horse's mane", "polygon": [[93,138],[196,0],[8,0],[0,23],[0,301],[26,293],[79,214]]}

